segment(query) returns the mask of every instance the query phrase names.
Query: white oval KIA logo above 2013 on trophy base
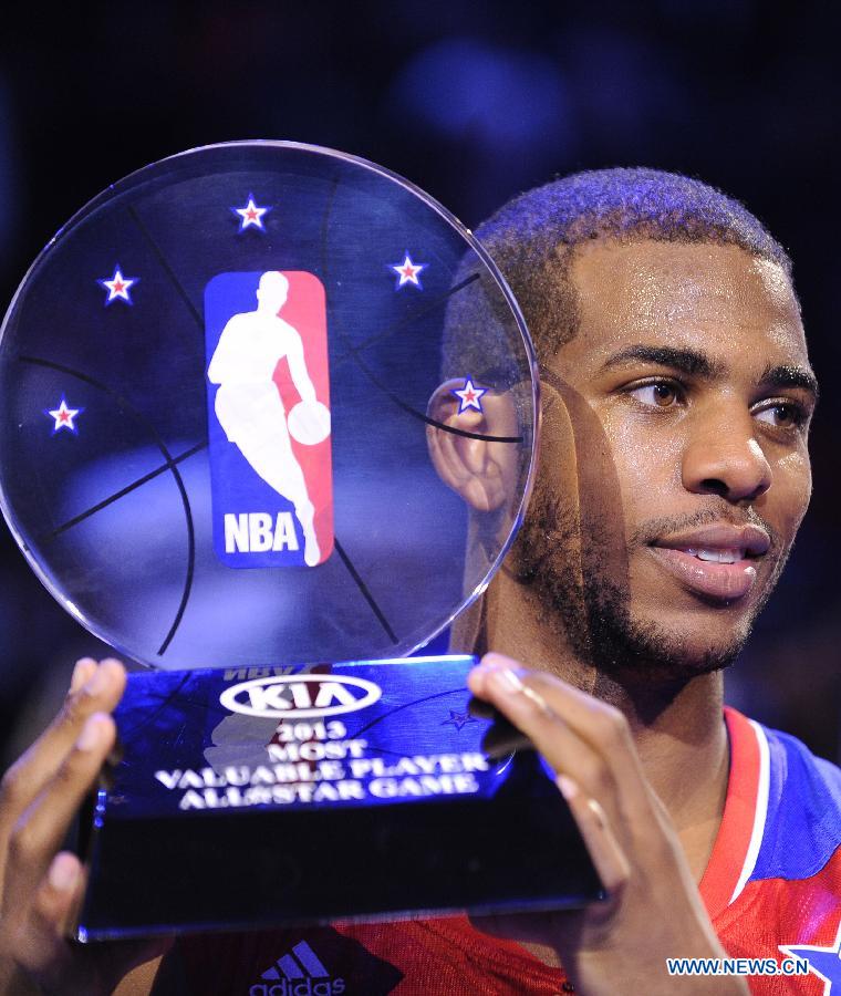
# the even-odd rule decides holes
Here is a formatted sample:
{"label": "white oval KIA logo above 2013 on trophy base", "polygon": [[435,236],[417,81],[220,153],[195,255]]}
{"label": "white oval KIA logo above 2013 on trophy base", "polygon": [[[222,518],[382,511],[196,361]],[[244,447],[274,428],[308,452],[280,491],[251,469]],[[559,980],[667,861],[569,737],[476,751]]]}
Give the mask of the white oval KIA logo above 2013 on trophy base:
{"label": "white oval KIA logo above 2013 on trophy base", "polygon": [[226,709],[245,716],[303,719],[364,709],[382,694],[373,682],[343,674],[287,674],[232,685],[222,692],[219,702]]}

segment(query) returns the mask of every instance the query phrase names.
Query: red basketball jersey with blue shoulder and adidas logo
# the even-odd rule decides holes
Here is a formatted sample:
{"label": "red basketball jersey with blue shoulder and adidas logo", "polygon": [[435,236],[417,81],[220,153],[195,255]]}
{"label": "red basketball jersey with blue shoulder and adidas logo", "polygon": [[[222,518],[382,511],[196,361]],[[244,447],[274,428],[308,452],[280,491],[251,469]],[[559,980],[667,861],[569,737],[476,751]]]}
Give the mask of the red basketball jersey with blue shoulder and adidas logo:
{"label": "red basketball jersey with blue shoulder and adidas logo", "polygon": [[[806,975],[750,976],[757,996],[841,996],[841,770],[793,737],[725,715],[727,798],[699,886],[713,925],[734,958],[808,958]],[[574,992],[561,969],[466,917],[185,937],[177,952],[190,996]]]}

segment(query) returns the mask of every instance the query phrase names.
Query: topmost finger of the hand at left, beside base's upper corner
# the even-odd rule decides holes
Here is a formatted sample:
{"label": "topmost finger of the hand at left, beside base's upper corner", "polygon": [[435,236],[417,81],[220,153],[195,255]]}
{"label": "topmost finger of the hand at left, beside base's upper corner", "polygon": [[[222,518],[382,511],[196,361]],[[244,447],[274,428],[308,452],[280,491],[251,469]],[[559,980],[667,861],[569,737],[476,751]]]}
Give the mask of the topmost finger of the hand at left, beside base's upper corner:
{"label": "topmost finger of the hand at left, beside base's upper corner", "polygon": [[72,691],[58,716],[3,776],[0,832],[8,832],[8,828],[55,775],[87,717],[95,712],[110,713],[120,702],[124,688],[125,668],[120,661],[108,658],[100,665],[91,658],[79,662],[71,682]]}

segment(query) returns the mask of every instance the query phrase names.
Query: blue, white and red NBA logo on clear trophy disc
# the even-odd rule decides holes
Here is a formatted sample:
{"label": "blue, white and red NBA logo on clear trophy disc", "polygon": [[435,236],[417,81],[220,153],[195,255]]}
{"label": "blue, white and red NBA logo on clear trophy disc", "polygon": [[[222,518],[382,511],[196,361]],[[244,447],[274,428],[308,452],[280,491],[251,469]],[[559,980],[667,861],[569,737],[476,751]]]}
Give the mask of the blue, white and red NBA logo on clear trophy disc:
{"label": "blue, white and red NBA logo on clear trophy disc", "polygon": [[324,288],[312,273],[219,273],[205,288],[214,548],[232,568],[333,551]]}

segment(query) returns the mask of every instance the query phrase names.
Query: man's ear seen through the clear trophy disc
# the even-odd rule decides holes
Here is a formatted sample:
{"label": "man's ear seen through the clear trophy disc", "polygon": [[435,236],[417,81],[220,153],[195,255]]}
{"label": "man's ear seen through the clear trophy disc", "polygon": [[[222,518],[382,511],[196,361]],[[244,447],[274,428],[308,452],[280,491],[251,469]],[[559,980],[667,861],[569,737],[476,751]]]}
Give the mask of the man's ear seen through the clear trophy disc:
{"label": "man's ear seen through the clear trophy disc", "polygon": [[[453,394],[461,380],[445,381],[429,398],[426,442],[438,476],[477,511],[494,511],[516,489],[518,447],[494,437],[518,435],[517,413],[510,394],[488,391],[481,411],[466,408]],[[490,437],[490,438],[485,438]]]}

